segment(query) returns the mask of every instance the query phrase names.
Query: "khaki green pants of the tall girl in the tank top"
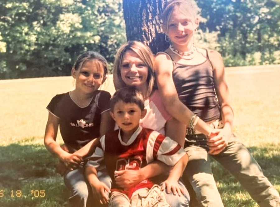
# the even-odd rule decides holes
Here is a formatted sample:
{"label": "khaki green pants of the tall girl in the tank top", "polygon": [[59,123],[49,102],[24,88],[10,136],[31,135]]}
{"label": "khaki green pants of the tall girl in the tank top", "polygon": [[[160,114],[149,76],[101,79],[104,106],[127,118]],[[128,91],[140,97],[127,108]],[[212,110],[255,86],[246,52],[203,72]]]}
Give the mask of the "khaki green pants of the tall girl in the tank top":
{"label": "khaki green pants of the tall girl in the tank top", "polygon": [[188,179],[191,183],[199,206],[224,206],[212,175],[210,156],[236,177],[259,206],[280,206],[278,191],[264,176],[262,169],[248,149],[234,135],[231,136],[228,146],[218,155],[209,155],[207,147],[202,147],[202,141],[199,140],[198,146],[194,142],[185,144],[189,162],[183,174],[184,179]]}

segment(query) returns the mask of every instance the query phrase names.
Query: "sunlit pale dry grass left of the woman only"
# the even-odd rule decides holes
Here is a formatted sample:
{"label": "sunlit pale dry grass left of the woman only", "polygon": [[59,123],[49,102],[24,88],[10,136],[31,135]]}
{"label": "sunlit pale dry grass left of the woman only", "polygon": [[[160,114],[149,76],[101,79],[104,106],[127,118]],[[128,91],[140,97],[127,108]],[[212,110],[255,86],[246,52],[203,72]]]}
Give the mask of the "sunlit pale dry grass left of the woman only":
{"label": "sunlit pale dry grass left of the woman only", "polygon": [[[42,141],[48,118],[46,106],[56,94],[73,88],[71,76],[0,80],[1,120],[6,123],[1,126],[0,143],[9,144],[26,137]],[[112,75],[101,89],[114,93]]]}

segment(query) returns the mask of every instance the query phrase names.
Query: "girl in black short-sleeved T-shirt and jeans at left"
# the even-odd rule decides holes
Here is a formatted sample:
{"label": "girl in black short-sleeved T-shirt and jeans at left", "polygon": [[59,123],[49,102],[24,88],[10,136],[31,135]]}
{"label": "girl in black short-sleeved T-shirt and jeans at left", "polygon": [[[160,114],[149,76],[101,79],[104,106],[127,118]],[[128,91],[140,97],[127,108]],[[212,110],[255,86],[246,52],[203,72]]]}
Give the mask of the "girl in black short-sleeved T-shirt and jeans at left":
{"label": "girl in black short-sleeved T-shirt and jeans at left", "polygon": [[[70,204],[75,207],[86,207],[86,203],[91,202],[88,199],[91,198],[91,188],[84,178],[82,166],[82,156],[86,155],[84,152],[88,152],[90,146],[84,146],[114,129],[114,121],[109,114],[111,95],[98,90],[104,83],[107,72],[108,64],[102,55],[93,51],[83,53],[77,58],[71,71],[76,81],[75,89],[54,96],[47,106],[49,118],[44,144],[69,169],[64,172],[63,177],[65,185],[71,191]],[[56,142],[58,126],[66,150]],[[102,175],[100,172],[101,179]],[[110,189],[110,180],[105,179],[103,182]]]}

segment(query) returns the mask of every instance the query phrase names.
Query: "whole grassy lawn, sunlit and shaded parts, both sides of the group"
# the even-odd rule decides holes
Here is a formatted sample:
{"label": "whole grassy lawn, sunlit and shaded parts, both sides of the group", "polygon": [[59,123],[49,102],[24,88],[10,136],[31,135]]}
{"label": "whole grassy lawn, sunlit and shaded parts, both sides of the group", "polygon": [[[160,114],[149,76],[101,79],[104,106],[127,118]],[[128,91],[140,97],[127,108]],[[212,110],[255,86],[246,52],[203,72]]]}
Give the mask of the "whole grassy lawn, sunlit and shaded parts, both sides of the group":
{"label": "whole grassy lawn, sunlit and shaded parts, both sides of the group", "polygon": [[[280,191],[280,66],[227,68],[234,133]],[[44,147],[50,99],[71,90],[71,77],[0,80],[0,206],[65,206],[68,191]],[[114,92],[110,78],[102,89]],[[58,141],[62,143],[60,135]],[[212,163],[226,207],[258,206],[236,179]]]}

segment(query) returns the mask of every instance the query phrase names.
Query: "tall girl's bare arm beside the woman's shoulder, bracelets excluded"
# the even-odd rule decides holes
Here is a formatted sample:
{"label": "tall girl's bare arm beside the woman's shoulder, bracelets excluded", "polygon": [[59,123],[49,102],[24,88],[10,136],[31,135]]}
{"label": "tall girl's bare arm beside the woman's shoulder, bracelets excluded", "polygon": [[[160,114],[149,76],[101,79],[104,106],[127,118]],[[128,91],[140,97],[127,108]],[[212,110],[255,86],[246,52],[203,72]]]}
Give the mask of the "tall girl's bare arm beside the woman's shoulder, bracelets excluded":
{"label": "tall girl's bare arm beside the woman's shoulder, bracelets excluded", "polygon": [[[158,54],[155,58],[155,68],[156,68],[156,81],[163,98],[163,103],[166,110],[180,122],[189,125],[189,121],[194,113],[189,110],[179,99],[177,94],[173,78],[173,63],[165,54]],[[195,126],[200,132],[208,135],[212,131],[212,128],[208,126],[205,122],[199,119],[197,125]]]}

